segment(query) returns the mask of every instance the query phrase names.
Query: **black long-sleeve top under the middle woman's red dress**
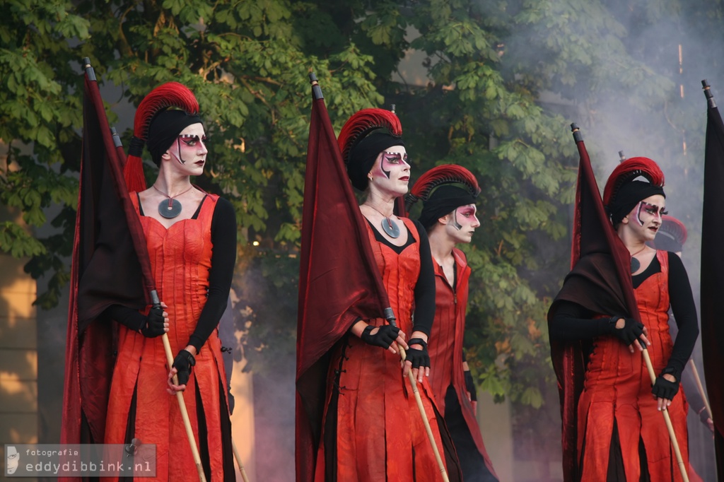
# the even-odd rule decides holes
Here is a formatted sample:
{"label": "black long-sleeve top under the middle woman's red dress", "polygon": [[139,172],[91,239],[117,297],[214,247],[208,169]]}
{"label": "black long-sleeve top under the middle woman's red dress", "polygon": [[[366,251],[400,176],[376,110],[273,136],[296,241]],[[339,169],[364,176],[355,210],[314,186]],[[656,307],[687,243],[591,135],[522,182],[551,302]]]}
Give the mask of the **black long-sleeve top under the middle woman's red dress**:
{"label": "black long-sleeve top under the middle woman's red dress", "polygon": [[[369,221],[367,221],[369,222]],[[415,284],[415,319],[413,329],[422,331],[427,336],[430,335],[432,329],[432,321],[435,319],[435,271],[432,266],[432,253],[430,252],[430,242],[427,239],[427,232],[419,221],[413,220],[417,228],[417,235],[420,238],[420,274]],[[370,224],[370,226],[372,226]],[[390,246],[395,253],[400,254],[409,245],[415,242],[415,238],[408,229],[408,240],[402,246],[395,246],[388,241],[382,234],[372,227],[374,239],[382,242],[384,245]]]}

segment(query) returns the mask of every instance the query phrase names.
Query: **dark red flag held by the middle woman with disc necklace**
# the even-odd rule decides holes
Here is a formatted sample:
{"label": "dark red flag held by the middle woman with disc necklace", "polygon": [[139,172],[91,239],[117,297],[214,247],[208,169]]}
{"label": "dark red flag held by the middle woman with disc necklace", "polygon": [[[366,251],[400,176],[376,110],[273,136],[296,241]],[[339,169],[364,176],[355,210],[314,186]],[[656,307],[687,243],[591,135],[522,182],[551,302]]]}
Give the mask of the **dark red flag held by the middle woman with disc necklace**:
{"label": "dark red flag held by the middle woman with disc necklace", "polygon": [[384,318],[390,306],[316,78],[313,93],[297,325],[299,482],[313,480],[330,350],[356,318]]}

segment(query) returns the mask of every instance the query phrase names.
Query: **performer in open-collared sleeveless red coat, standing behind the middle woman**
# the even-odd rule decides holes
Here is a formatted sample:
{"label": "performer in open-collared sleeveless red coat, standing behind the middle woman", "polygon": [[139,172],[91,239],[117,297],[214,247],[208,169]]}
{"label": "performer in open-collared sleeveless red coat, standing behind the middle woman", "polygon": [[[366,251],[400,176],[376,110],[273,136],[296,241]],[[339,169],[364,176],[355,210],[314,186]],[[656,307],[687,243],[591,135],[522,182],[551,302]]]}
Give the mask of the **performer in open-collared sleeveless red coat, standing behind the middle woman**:
{"label": "performer in open-collared sleeveless red coat, standing behind the middle woman", "polygon": [[480,187],[473,174],[452,164],[430,169],[417,180],[406,201],[423,201],[418,221],[427,231],[435,269],[435,320],[430,332],[430,386],[445,414],[463,470],[463,481],[497,481],[476,420],[476,387],[463,352],[468,279],[465,253],[480,226],[475,200]]}

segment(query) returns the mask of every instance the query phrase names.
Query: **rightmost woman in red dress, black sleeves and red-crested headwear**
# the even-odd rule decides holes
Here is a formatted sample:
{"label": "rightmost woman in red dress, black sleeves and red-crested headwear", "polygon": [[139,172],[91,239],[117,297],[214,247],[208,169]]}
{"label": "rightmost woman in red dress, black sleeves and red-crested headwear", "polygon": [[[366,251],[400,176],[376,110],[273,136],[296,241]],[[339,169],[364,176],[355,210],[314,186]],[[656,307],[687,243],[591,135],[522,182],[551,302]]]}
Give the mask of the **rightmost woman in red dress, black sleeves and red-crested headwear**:
{"label": "rightmost woman in red dress, black sleeves and red-crested headwear", "polygon": [[[631,254],[631,275],[642,323],[611,313],[614,290],[597,276],[592,255],[566,277],[549,312],[552,345],[580,343],[584,389],[578,398],[576,453],[581,481],[680,481],[660,410],[668,410],[686,466],[689,465],[686,398],[681,373],[699,334],[686,270],[677,255],[649,248],[665,214],[664,176],[649,158],[629,158],[610,175],[604,203]],[[679,334],[672,342],[668,310]],[[658,373],[653,388],[639,354],[646,344]],[[554,348],[554,357],[555,348]],[[577,373],[566,376],[576,377]],[[568,479],[567,479],[568,480]]]}

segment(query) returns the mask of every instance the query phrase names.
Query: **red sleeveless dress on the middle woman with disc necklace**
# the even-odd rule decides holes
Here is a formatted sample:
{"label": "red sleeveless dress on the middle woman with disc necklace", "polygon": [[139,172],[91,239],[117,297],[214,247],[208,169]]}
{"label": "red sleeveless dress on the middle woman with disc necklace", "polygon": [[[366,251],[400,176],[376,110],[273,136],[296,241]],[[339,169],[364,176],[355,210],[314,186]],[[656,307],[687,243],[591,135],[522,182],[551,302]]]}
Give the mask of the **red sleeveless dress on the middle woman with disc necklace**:
{"label": "red sleeveless dress on the middle woman with disc necklace", "polygon": [[[420,240],[410,219],[403,219],[416,242],[399,255],[375,239],[367,225],[374,257],[379,267],[397,326],[407,339],[413,331],[412,313],[415,285],[420,273]],[[386,324],[383,318],[369,324]],[[339,372],[339,373],[337,373]],[[323,427],[327,417],[336,417],[336,466],[339,482],[439,482],[442,480],[427,437],[409,379],[403,378],[400,355],[373,347],[358,337],[348,336],[330,363]],[[339,389],[336,410],[330,409],[332,392]],[[418,384],[425,413],[437,441],[443,448],[432,394],[427,380]],[[324,434],[322,435],[324,440]],[[319,444],[316,482],[325,481],[325,457],[334,457]],[[329,482],[329,481],[327,481]]]}

